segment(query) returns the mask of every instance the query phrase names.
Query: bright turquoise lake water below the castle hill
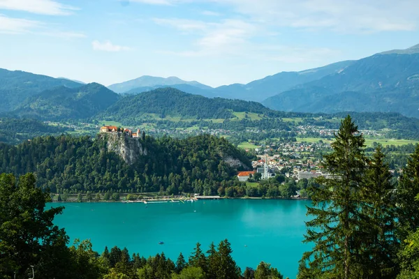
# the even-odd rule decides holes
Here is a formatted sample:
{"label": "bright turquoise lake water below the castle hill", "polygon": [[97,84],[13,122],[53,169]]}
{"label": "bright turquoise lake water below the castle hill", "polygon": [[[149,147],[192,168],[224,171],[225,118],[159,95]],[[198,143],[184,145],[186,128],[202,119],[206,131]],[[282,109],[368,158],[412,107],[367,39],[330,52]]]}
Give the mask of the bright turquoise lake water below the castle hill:
{"label": "bright turquoise lake water below the castle hill", "polygon": [[[91,239],[94,250],[128,248],[148,257],[164,252],[174,262],[187,259],[196,243],[204,251],[212,241],[228,239],[244,271],[260,261],[295,278],[298,261],[309,246],[302,243],[307,220],[304,200],[220,199],[180,203],[64,203],[54,223],[71,238]],[[159,241],[164,241],[159,245]]]}

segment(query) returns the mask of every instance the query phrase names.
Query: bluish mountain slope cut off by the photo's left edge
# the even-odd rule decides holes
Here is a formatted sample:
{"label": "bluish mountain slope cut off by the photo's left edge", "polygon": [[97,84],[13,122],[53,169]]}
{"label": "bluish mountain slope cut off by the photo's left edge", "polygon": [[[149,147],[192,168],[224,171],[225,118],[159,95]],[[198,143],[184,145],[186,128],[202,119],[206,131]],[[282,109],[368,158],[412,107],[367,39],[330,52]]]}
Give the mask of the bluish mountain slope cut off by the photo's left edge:
{"label": "bluish mountain slope cut off by the photo's left edge", "polygon": [[80,83],[0,68],[0,112],[14,110],[27,97],[57,86],[73,88],[80,86]]}

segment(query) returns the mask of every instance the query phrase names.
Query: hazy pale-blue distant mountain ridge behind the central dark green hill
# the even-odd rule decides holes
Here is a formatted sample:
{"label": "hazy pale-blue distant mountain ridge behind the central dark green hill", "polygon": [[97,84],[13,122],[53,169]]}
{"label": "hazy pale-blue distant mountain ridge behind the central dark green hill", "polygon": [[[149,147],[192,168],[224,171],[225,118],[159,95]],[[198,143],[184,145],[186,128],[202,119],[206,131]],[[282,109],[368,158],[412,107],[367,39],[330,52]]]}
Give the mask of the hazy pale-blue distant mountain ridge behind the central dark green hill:
{"label": "hazy pale-blue distant mountain ridge behind the central dark green hill", "polygon": [[140,87],[148,87],[148,88],[159,88],[165,86],[172,86],[176,84],[189,84],[193,86],[193,88],[198,89],[212,89],[212,87],[207,86],[205,84],[201,84],[196,81],[186,82],[185,80],[179,79],[179,77],[152,77],[149,75],[143,75],[142,77],[138,77],[135,80],[128,80],[127,82],[121,82],[117,84],[112,84],[108,86],[108,88],[112,91],[117,93],[126,93],[128,91],[132,91],[133,89],[138,89]]}

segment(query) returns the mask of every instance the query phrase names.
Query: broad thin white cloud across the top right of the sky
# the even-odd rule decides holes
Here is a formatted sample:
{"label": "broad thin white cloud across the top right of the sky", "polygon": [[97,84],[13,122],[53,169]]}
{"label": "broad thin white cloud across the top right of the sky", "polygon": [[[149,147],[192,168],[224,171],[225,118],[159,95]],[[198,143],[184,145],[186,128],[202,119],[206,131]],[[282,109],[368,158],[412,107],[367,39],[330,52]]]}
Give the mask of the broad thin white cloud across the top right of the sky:
{"label": "broad thin white cloud across the top right of the sky", "polygon": [[411,31],[418,25],[417,0],[210,0],[263,24],[344,33]]}

